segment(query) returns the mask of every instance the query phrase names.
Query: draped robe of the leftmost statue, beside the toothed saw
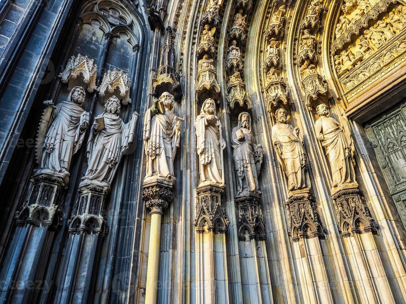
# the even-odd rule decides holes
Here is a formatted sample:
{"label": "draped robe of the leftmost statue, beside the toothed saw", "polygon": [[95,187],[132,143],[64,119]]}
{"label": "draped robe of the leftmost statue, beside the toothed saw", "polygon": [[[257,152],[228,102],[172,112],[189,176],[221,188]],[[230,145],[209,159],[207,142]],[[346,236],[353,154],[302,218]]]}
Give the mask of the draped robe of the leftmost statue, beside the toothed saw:
{"label": "draped robe of the leftmost statue, beside the toothed saw", "polygon": [[56,172],[69,176],[72,155],[82,146],[84,132],[80,131],[80,116],[84,110],[70,101],[56,105],[55,117],[45,136],[40,172]]}

